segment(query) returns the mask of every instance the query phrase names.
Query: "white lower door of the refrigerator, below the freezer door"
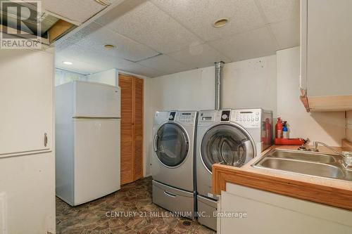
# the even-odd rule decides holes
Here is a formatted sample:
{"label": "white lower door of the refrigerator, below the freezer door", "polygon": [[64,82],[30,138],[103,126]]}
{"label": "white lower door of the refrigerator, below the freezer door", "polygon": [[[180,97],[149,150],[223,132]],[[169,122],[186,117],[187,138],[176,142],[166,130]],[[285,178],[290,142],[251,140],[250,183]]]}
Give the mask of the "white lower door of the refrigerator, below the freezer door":
{"label": "white lower door of the refrigerator, below the freezer door", "polygon": [[75,119],[74,204],[120,189],[120,119]]}

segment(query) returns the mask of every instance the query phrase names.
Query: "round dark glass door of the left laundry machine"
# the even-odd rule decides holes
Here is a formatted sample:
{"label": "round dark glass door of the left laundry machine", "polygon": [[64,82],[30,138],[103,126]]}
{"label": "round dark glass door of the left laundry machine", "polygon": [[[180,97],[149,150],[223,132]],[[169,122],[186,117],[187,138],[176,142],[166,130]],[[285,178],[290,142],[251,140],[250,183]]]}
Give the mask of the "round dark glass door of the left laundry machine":
{"label": "round dark glass door of the left laundry machine", "polygon": [[177,167],[187,157],[189,141],[177,124],[167,123],[156,133],[155,150],[159,160],[168,167]]}

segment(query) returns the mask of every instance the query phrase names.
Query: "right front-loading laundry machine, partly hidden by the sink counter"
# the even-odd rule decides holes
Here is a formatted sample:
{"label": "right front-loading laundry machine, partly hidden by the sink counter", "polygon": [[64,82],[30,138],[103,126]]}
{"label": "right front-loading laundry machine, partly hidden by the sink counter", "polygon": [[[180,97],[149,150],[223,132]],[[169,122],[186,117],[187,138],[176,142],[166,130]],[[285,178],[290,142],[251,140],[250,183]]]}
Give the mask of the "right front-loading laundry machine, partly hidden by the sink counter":
{"label": "right front-loading laundry machine, partly hidden by the sink counter", "polygon": [[272,143],[272,112],[261,108],[201,110],[196,139],[198,221],[216,230],[217,197],[211,191],[215,163],[241,167]]}

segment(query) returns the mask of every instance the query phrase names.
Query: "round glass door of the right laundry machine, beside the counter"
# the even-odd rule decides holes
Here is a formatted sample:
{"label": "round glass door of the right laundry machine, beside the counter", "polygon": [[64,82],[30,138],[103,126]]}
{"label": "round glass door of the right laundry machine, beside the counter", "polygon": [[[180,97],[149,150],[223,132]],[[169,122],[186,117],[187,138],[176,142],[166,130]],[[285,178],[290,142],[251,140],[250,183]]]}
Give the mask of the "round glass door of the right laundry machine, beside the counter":
{"label": "round glass door of the right laundry machine, beside the counter", "polygon": [[254,145],[248,134],[239,127],[219,124],[203,136],[201,157],[210,172],[215,163],[241,167],[254,157]]}

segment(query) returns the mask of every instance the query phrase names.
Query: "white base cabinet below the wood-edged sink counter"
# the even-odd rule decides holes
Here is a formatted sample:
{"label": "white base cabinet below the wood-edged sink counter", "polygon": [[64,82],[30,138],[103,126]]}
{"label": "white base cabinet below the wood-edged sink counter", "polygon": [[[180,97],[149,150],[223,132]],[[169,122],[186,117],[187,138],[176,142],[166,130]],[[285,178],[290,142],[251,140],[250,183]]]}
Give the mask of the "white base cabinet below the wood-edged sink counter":
{"label": "white base cabinet below the wood-edged sink counter", "polygon": [[226,189],[218,233],[352,233],[351,211],[232,183]]}

